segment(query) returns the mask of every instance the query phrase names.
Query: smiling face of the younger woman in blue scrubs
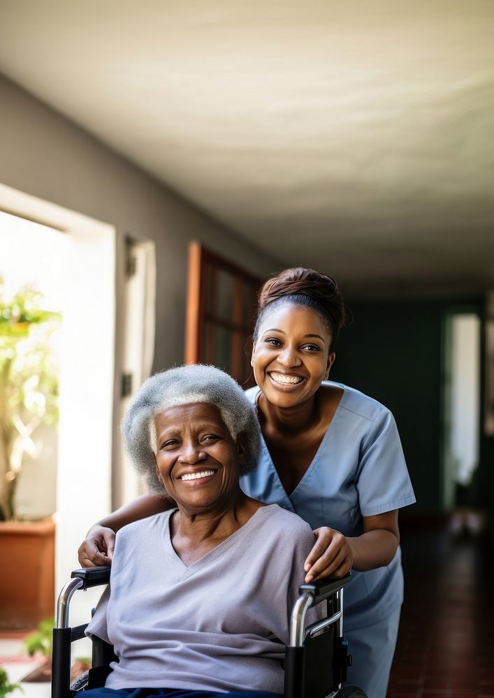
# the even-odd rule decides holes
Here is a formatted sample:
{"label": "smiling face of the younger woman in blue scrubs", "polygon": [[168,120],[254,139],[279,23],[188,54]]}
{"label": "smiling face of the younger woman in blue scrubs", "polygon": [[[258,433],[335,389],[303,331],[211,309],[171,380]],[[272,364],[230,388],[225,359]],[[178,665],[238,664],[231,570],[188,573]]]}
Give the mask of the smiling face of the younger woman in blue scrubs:
{"label": "smiling face of the younger woman in blue scrubs", "polygon": [[311,399],[335,359],[330,345],[328,328],[316,311],[286,304],[266,312],[251,361],[266,399],[284,408]]}

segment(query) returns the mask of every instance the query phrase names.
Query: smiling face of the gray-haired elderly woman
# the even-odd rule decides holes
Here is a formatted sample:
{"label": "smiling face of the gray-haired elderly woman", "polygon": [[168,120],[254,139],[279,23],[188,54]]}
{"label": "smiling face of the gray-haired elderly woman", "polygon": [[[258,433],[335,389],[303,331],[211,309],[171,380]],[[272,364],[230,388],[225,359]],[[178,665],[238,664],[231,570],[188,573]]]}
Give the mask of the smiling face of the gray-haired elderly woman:
{"label": "smiling face of the gray-haired elderly woman", "polygon": [[208,403],[171,407],[154,426],[157,475],[177,505],[195,514],[228,507],[245,449],[233,440],[219,409]]}

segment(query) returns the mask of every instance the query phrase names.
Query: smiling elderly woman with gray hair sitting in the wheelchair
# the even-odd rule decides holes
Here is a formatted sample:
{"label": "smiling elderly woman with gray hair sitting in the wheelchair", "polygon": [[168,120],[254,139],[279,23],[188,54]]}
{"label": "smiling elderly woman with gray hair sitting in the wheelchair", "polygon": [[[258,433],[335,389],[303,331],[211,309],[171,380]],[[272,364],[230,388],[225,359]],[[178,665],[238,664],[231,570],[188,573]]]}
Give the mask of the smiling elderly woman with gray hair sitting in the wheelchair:
{"label": "smiling elderly woman with gray hair sitting in the wheelchair", "polygon": [[[340,597],[332,625],[321,622],[324,604],[309,608],[329,596],[318,597],[318,584],[305,585],[300,601],[310,526],[240,489],[240,475],[255,467],[259,426],[235,381],[212,366],[152,376],[131,401],[122,433],[148,487],[176,508],[117,534],[110,586],[86,630],[112,644],[117,661],[88,698],[281,698],[294,606],[314,636],[331,629],[341,659]],[[295,634],[303,645],[303,628]],[[305,659],[292,660],[302,664],[291,673],[304,674]],[[334,672],[334,656],[322,661]],[[343,670],[332,680],[342,679]],[[315,698],[293,681],[297,698]]]}

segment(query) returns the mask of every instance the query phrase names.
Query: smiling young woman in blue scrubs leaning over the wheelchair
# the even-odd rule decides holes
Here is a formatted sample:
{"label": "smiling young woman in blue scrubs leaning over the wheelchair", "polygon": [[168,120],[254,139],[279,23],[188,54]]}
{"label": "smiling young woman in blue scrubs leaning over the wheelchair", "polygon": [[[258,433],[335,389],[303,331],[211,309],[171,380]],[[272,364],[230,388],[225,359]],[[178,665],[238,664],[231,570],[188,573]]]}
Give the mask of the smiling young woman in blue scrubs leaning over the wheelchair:
{"label": "smiling young woman in blue scrubs leaning over the wheelchair", "polygon": [[[415,498],[393,415],[327,380],[343,322],[330,276],[286,269],[261,288],[252,352],[257,385],[247,396],[263,439],[256,470],[240,483],[247,495],[316,529],[307,581],[352,571],[344,595],[349,683],[384,698],[403,597],[398,510]],[[105,564],[113,530],[171,505],[145,496],[106,517],[82,543],[80,563]]]}

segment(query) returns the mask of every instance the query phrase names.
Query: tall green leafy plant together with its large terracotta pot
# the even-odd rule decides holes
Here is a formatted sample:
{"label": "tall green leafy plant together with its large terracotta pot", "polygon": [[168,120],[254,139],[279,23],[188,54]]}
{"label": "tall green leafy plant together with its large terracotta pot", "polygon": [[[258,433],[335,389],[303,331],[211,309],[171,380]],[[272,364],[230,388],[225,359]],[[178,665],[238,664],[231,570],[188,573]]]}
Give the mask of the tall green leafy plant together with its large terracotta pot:
{"label": "tall green leafy plant together with its large terracotta pot", "polygon": [[43,449],[36,429],[57,424],[59,322],[40,292],[8,296],[0,279],[0,544],[11,574],[0,577],[0,628],[32,628],[53,612],[55,523],[19,521],[15,489],[26,455]]}

